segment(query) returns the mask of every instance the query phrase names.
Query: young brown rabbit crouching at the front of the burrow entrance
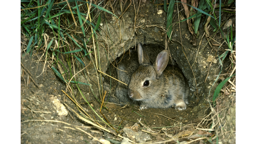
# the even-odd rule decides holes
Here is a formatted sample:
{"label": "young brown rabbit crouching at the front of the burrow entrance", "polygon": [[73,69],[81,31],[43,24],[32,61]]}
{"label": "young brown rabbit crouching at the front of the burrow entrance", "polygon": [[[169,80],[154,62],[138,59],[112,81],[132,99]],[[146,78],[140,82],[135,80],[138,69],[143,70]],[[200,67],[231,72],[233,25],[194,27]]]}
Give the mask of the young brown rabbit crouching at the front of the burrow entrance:
{"label": "young brown rabbit crouching at the front of the burrow entrance", "polygon": [[161,51],[151,65],[147,53],[139,48],[138,60],[140,66],[131,76],[128,95],[141,103],[140,110],[170,107],[185,110],[188,82],[177,66],[167,65],[168,50]]}

